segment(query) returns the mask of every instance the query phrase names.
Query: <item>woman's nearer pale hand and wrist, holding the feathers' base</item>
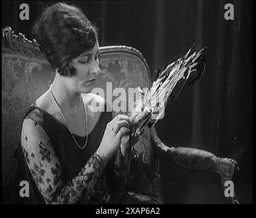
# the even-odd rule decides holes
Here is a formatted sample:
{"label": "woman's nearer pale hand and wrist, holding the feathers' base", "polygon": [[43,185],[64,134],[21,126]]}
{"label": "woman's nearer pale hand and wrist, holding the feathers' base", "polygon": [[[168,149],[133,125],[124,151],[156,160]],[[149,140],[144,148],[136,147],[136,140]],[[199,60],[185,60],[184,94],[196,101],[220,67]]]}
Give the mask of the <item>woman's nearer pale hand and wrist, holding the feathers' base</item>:
{"label": "woman's nearer pale hand and wrist, holding the feathers' base", "polygon": [[97,150],[97,154],[102,158],[104,166],[107,161],[119,148],[123,136],[130,134],[130,119],[124,114],[119,114],[106,125],[106,129]]}

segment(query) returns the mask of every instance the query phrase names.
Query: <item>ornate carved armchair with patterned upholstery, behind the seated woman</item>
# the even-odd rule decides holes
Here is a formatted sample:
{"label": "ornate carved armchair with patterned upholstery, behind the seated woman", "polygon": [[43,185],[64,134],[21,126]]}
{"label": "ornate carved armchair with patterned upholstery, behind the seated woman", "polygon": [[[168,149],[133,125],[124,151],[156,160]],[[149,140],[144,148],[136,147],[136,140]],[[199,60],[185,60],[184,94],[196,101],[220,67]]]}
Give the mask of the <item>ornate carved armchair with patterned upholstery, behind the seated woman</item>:
{"label": "ornate carved armchair with patterned upholstery, behind the seated woman", "polygon": [[[127,46],[104,46],[100,48],[100,75],[95,87],[106,93],[111,89],[149,87],[150,69],[141,53]],[[27,108],[44,93],[54,78],[54,72],[40,52],[35,41],[10,27],[2,29],[2,179],[3,200],[8,199],[12,180],[12,155],[20,133],[20,125]],[[106,96],[105,96],[106,97]],[[127,102],[128,102],[128,96]],[[117,96],[113,96],[113,101]],[[126,105],[126,111],[129,110]],[[122,112],[122,111],[121,111]],[[128,112],[122,112],[127,114]],[[113,112],[116,116],[119,112]],[[165,158],[190,170],[218,173],[221,185],[231,181],[236,161],[218,158],[212,153],[198,149],[169,147],[161,142],[155,127],[146,128],[139,142],[132,147],[128,170],[128,193],[132,203],[145,196],[154,196],[163,202],[160,183],[159,160]],[[140,194],[143,196],[140,196]],[[224,190],[223,190],[224,194]],[[238,203],[236,196],[230,202]],[[147,202],[147,199],[144,199]]]}

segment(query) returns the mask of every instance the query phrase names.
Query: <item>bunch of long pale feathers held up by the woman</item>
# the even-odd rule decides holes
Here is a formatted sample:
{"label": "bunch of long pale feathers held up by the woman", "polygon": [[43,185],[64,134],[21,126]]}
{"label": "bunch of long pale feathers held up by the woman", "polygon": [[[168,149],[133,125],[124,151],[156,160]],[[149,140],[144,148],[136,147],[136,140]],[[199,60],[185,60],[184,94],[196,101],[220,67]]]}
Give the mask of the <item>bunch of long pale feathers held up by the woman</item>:
{"label": "bunch of long pale feathers held up by the woman", "polygon": [[[150,89],[145,91],[145,93],[141,93],[141,102],[137,102],[141,110],[137,108],[131,114],[133,123],[132,135],[138,136],[141,134],[144,127],[152,121],[152,116],[158,111],[159,107],[165,110],[169,96],[173,92],[177,82],[184,79],[185,84],[190,73],[197,70],[193,69],[193,67],[197,65],[196,61],[203,55],[205,48],[199,52],[193,52],[190,55],[193,46],[186,52],[186,55],[173,61],[165,69],[162,69],[158,78],[151,84]],[[154,120],[154,123],[156,121],[158,120]]]}

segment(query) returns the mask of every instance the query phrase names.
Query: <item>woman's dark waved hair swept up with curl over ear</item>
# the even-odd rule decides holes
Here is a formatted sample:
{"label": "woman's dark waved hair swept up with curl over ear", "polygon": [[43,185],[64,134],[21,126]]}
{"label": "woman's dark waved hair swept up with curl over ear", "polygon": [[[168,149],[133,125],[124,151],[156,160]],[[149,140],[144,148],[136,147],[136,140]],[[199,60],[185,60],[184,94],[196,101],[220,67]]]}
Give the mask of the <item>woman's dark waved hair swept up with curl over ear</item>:
{"label": "woman's dark waved hair swept up with curl over ear", "polygon": [[74,5],[55,3],[42,12],[32,29],[48,62],[61,76],[74,76],[72,59],[94,48],[98,29]]}

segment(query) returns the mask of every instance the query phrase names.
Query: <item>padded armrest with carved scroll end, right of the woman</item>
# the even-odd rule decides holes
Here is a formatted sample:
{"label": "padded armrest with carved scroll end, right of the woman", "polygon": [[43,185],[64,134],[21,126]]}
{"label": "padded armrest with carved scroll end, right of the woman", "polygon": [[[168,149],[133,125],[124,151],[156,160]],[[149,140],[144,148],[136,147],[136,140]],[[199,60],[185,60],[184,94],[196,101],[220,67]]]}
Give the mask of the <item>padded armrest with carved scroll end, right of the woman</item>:
{"label": "padded armrest with carved scroll end, right of the woman", "polygon": [[[165,145],[157,136],[154,126],[151,128],[150,133],[155,145],[154,148],[156,149],[156,153],[158,153],[160,157],[164,157],[165,159],[173,161],[177,165],[190,170],[218,173],[221,178],[223,191],[226,189],[225,182],[233,179],[235,169],[239,170],[237,161],[233,159],[216,157],[216,155],[200,149],[184,147],[175,148]],[[236,193],[229,199],[232,204],[239,204],[239,201],[236,198]]]}

